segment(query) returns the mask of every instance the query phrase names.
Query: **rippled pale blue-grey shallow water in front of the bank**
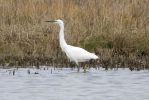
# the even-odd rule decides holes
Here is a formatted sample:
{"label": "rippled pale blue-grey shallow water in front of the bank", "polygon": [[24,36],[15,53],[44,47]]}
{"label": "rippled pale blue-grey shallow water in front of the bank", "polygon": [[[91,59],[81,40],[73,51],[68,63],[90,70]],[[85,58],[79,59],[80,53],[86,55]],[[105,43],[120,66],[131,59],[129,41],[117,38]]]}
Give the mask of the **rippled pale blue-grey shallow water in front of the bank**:
{"label": "rippled pale blue-grey shallow water in front of the bank", "polygon": [[0,100],[149,100],[149,71],[10,70],[0,69]]}

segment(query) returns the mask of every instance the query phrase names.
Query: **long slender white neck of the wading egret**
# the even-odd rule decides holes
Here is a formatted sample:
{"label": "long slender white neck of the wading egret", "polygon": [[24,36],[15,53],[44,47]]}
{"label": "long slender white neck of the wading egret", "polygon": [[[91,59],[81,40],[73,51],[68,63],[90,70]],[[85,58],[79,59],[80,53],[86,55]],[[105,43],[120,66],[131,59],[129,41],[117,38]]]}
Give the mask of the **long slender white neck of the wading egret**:
{"label": "long slender white neck of the wading egret", "polygon": [[60,32],[59,32],[59,42],[62,50],[67,46],[67,43],[64,38],[64,24],[60,24]]}

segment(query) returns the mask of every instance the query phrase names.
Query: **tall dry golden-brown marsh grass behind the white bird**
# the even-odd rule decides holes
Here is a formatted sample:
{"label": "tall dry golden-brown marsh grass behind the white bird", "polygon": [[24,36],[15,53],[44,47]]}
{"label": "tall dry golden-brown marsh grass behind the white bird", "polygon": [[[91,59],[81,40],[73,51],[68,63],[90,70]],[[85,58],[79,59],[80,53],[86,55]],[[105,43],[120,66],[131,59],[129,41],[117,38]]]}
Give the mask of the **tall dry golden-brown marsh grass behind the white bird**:
{"label": "tall dry golden-brown marsh grass behind the white bird", "polygon": [[148,0],[0,0],[0,63],[68,62],[58,27],[44,23],[61,18],[67,42],[96,52],[102,66],[148,68],[148,5]]}

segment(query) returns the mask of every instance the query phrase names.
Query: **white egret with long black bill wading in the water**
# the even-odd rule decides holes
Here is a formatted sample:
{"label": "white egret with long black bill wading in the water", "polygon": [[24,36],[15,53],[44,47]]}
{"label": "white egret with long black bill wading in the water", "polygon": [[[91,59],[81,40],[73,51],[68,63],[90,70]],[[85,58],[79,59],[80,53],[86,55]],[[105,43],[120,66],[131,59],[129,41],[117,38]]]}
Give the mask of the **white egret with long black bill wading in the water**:
{"label": "white egret with long black bill wading in the water", "polygon": [[[56,23],[60,26],[60,32],[59,32],[60,47],[62,51],[66,53],[67,57],[70,59],[71,62],[75,62],[77,66],[79,66],[79,62],[86,62],[91,59],[98,59],[98,56],[96,56],[94,53],[90,53],[85,49],[71,46],[66,43],[64,38],[64,22],[62,20],[58,19],[58,20],[46,21],[46,22]],[[78,71],[79,71],[79,68],[78,68]]]}

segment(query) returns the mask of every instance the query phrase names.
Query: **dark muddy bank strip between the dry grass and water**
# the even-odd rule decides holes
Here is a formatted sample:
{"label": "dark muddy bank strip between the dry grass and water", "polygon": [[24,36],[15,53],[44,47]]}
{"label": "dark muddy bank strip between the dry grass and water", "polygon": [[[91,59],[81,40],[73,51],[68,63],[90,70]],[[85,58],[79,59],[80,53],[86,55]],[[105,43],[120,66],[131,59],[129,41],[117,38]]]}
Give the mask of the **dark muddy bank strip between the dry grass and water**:
{"label": "dark muddy bank strip between the dry grass and water", "polygon": [[[118,69],[118,68],[129,68],[130,70],[145,70],[149,69],[149,56],[139,55],[118,55],[111,53],[111,51],[102,51],[97,54],[100,59],[96,61],[89,61],[80,63],[80,66],[87,64],[88,67],[99,68],[103,67],[105,70]],[[26,68],[40,66],[54,66],[59,68],[65,67],[77,67],[74,63],[69,62],[66,55],[55,57],[33,57],[33,56],[5,56],[0,57],[0,65],[2,68],[15,67],[15,68]]]}

